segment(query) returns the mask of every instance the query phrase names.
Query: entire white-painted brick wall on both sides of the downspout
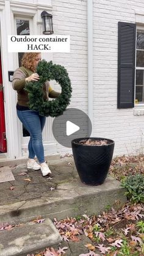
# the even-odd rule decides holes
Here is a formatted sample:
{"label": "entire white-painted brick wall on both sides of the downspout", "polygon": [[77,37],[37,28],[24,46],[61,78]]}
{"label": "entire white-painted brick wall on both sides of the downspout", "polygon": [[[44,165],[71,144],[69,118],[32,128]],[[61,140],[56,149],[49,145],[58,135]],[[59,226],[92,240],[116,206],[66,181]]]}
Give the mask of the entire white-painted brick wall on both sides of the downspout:
{"label": "entire white-painted brick wall on both sides of the downspout", "polygon": [[[93,1],[93,136],[115,141],[115,155],[143,149],[144,116],[133,109],[117,109],[118,21],[135,23],[143,0]],[[87,1],[52,0],[55,34],[71,35],[71,53],[54,54],[71,78],[71,107],[87,112]],[[144,24],[143,24],[144,27]],[[62,154],[68,148],[58,146]]]}

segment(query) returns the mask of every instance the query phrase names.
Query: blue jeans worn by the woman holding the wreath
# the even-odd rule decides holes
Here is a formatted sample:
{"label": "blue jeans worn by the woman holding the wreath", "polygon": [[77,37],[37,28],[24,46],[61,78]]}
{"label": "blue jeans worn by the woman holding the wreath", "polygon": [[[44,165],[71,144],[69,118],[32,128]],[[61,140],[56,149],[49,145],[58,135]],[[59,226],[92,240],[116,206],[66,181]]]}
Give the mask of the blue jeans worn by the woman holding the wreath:
{"label": "blue jeans worn by the woman holding the wreath", "polygon": [[24,127],[30,133],[28,145],[29,158],[34,159],[35,155],[39,163],[45,162],[42,131],[45,126],[46,117],[38,114],[38,111],[16,109],[18,118],[23,123]]}

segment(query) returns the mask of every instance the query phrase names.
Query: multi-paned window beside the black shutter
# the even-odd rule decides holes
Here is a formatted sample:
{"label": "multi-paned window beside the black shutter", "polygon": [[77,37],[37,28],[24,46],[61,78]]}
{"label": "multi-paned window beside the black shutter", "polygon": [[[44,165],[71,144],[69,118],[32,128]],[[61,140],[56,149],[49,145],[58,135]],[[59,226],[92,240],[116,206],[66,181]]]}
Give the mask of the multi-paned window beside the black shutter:
{"label": "multi-paned window beside the black shutter", "polygon": [[137,29],[135,103],[144,104],[144,30]]}

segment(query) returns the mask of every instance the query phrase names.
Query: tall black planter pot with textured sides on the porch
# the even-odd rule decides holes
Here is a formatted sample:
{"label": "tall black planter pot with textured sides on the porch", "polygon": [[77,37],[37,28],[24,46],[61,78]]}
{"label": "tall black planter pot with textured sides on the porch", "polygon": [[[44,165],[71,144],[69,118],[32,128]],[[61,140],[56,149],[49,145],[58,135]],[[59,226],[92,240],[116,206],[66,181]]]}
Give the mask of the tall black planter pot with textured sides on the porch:
{"label": "tall black planter pot with textured sides on the porch", "polygon": [[[79,141],[108,141],[106,145],[82,145]],[[107,177],[112,161],[115,142],[101,137],[82,137],[71,141],[74,163],[82,183],[87,185],[101,185]]]}

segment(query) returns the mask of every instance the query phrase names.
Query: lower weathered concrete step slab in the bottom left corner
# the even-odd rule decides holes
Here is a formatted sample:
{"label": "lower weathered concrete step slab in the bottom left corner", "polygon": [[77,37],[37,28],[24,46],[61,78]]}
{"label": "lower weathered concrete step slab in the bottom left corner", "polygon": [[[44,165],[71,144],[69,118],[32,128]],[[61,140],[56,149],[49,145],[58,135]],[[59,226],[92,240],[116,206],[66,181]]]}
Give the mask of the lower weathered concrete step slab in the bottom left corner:
{"label": "lower weathered concrete step slab in the bottom left corner", "polygon": [[0,256],[26,256],[61,241],[59,232],[49,218],[39,224],[26,222],[0,232]]}

